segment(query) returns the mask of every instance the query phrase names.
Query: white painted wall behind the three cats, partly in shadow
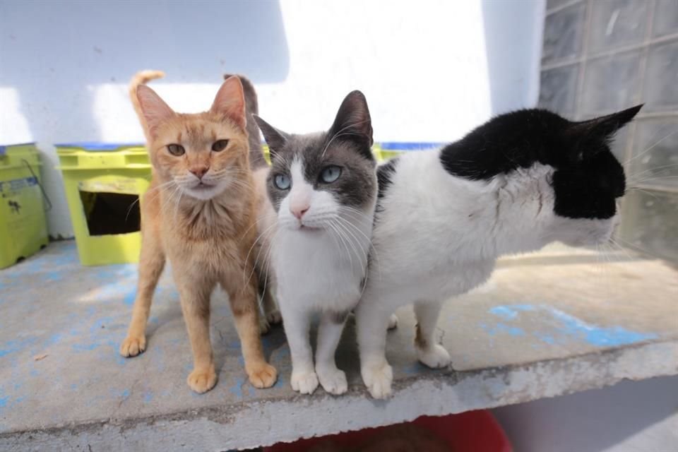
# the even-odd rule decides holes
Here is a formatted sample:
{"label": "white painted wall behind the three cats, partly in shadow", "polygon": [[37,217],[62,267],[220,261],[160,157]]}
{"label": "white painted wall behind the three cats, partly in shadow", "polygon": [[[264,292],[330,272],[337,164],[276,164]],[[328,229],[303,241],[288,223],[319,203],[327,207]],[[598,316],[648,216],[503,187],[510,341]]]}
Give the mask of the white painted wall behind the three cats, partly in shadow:
{"label": "white painted wall behind the three cats, partly in shadow", "polygon": [[225,71],[256,84],[261,115],[326,129],[350,90],[377,141],[449,141],[535,105],[543,0],[0,0],[0,143],[38,141],[53,236],[72,234],[52,143],[142,140],[126,83],[206,109]]}

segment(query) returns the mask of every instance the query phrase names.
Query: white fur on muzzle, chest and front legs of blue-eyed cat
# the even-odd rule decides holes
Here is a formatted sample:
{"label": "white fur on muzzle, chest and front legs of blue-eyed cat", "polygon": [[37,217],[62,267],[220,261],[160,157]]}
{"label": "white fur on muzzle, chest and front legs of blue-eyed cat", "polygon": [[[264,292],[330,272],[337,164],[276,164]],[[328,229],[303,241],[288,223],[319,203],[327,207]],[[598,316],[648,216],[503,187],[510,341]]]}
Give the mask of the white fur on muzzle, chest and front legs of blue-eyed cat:
{"label": "white fur on muzzle, chest and front legs of blue-eyed cat", "polygon": [[[360,299],[370,246],[374,205],[358,214],[346,211],[328,191],[304,180],[303,162],[291,168],[290,193],[278,209],[273,267],[283,325],[292,355],[292,388],[312,393],[320,382],[328,393],[347,390],[334,359],[343,330],[335,315]],[[301,220],[291,210],[308,207]],[[314,367],[309,343],[311,314],[321,313]]]}

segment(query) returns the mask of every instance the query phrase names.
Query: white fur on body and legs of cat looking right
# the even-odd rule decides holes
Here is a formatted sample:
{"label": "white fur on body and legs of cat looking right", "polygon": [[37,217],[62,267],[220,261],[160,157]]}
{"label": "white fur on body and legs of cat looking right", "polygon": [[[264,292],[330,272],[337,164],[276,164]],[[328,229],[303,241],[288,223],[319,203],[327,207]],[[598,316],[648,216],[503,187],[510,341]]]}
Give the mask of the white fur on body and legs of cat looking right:
{"label": "white fur on body and legs of cat looking right", "polygon": [[578,246],[606,242],[609,220],[554,215],[553,168],[534,165],[489,181],[453,177],[439,150],[400,157],[373,232],[374,264],[356,311],[361,372],[375,398],[391,394],[386,326],[393,311],[415,304],[420,361],[445,367],[448,352],[434,331],[441,304],[484,283],[502,254],[561,241]]}

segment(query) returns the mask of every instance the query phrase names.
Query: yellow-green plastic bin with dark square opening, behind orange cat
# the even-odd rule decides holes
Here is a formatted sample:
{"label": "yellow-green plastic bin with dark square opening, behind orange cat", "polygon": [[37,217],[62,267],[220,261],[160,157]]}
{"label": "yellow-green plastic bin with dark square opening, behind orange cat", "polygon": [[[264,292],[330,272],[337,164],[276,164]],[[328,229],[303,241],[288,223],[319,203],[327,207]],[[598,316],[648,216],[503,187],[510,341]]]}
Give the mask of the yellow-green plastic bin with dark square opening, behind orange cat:
{"label": "yellow-green plastic bin with dark square opening, behind orange cat", "polygon": [[138,262],[140,196],[151,170],[141,144],[57,144],[83,266]]}

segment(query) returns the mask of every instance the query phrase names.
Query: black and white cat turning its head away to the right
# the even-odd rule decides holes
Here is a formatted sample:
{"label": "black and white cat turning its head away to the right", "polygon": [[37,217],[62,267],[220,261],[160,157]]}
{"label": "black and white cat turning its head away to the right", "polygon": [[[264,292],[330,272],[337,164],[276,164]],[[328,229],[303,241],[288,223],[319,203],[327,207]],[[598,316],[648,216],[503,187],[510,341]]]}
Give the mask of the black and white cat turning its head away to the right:
{"label": "black and white cat turning its head away to the right", "polygon": [[614,133],[641,106],[571,122],[542,109],[504,114],[441,150],[378,169],[374,260],[356,309],[361,373],[374,398],[391,394],[386,326],[414,304],[417,357],[446,367],[434,331],[442,303],[484,283],[502,254],[607,242],[624,195]]}

